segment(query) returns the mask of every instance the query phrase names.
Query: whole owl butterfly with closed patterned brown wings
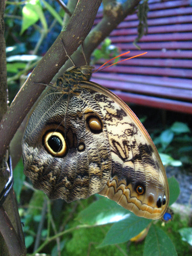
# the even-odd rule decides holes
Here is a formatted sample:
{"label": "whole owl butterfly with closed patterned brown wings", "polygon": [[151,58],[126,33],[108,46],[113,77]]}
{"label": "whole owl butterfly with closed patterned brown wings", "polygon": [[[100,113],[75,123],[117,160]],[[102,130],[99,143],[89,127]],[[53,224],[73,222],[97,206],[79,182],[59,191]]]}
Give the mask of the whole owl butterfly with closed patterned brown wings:
{"label": "whole owl butterfly with closed patterned brown wings", "polygon": [[99,193],[160,218],[169,188],[157,149],[131,109],[89,81],[93,68],[69,68],[39,101],[23,136],[24,173],[51,199]]}

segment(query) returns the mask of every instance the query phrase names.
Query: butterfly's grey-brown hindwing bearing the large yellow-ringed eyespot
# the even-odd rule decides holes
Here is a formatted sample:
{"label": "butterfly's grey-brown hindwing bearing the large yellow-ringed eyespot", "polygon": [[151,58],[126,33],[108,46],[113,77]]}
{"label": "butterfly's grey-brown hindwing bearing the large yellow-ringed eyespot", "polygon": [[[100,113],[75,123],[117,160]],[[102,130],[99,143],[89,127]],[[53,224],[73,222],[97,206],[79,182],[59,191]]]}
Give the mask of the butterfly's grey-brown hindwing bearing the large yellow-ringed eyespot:
{"label": "butterfly's grey-brown hindwing bearing the large yellow-ringed eyespot", "polygon": [[22,142],[24,173],[49,198],[87,198],[101,191],[110,177],[107,128],[86,92],[82,100],[79,93],[51,89],[29,117]]}

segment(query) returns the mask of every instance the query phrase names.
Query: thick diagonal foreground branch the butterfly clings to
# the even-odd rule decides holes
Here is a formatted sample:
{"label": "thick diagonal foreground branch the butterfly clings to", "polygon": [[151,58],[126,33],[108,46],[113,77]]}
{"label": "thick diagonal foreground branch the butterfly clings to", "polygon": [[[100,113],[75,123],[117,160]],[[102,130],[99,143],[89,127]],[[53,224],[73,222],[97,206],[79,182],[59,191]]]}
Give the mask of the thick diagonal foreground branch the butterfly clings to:
{"label": "thick diagonal foreground branch the butterfly clings to", "polygon": [[[62,29],[54,44],[52,44],[20,89],[0,123],[0,159],[5,155],[10,141],[24,117],[45,88],[45,86],[40,86],[37,83],[48,84],[68,59],[63,50],[61,38],[64,41],[68,54],[71,55],[84,41],[84,38],[93,26],[100,4],[101,0],[80,0],[78,2],[67,27]],[[20,105],[21,102],[23,103],[22,106]]]}

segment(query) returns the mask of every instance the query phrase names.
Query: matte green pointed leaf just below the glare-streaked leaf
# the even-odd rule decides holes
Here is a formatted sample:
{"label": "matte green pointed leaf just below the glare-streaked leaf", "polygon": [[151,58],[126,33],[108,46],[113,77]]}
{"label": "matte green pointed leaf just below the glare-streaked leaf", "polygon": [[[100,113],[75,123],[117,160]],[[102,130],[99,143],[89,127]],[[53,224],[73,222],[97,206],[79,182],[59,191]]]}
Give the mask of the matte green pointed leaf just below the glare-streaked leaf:
{"label": "matte green pointed leaf just below the glare-streaked leaf", "polygon": [[150,223],[151,220],[140,218],[130,212],[128,218],[113,224],[99,247],[128,241],[132,237],[137,236]]}

